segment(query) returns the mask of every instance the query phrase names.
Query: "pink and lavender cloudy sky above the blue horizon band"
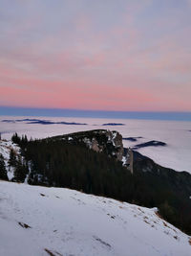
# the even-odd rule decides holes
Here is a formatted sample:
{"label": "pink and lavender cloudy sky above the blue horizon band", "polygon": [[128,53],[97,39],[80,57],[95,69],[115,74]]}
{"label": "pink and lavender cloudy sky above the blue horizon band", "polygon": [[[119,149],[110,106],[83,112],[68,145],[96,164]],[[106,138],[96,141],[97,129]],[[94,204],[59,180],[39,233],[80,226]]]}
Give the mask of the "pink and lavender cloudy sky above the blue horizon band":
{"label": "pink and lavender cloudy sky above the blue horizon band", "polygon": [[191,111],[191,0],[1,0],[0,106]]}

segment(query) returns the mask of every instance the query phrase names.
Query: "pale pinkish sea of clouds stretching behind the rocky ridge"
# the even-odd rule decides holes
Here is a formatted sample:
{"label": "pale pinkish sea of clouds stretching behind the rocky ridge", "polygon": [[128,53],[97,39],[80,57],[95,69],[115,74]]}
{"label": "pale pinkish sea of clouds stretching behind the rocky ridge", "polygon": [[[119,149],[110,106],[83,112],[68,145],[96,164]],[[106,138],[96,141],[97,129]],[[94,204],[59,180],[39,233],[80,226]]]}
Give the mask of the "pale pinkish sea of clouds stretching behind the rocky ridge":
{"label": "pale pinkish sea of clouds stretching behind the rocky ridge", "polygon": [[[23,119],[25,121],[22,121]],[[26,121],[26,119],[36,119],[38,121]],[[40,121],[50,121],[50,124],[41,124]],[[57,124],[60,122],[70,124]],[[26,134],[28,138],[45,138],[96,128],[117,130],[124,138],[141,137],[134,142],[123,140],[124,147],[133,148],[140,143],[151,140],[164,142],[166,146],[144,147],[138,149],[138,151],[162,166],[191,173],[191,122],[76,117],[0,117],[0,132],[3,139],[11,139],[14,132],[19,135]]]}

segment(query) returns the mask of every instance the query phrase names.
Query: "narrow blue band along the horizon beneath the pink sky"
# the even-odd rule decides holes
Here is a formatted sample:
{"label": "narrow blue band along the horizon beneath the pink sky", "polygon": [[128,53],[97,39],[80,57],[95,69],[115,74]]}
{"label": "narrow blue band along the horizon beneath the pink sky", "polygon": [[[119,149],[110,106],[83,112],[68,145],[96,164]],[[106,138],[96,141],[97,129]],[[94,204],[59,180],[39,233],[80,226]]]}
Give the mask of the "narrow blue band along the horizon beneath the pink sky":
{"label": "narrow blue band along the horizon beneath the pink sky", "polygon": [[191,121],[191,111],[124,111],[50,107],[1,106],[0,116],[83,117]]}

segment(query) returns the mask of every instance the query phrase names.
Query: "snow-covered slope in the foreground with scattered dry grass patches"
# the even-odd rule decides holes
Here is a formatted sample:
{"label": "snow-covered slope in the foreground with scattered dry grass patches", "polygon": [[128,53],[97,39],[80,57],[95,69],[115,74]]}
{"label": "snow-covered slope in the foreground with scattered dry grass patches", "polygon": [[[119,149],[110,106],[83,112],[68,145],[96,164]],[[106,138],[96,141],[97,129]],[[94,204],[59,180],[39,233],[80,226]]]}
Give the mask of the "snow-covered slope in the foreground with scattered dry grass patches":
{"label": "snow-covered slope in the foreground with scattered dry grass patches", "polygon": [[0,255],[191,255],[190,238],[155,211],[69,189],[0,181]]}

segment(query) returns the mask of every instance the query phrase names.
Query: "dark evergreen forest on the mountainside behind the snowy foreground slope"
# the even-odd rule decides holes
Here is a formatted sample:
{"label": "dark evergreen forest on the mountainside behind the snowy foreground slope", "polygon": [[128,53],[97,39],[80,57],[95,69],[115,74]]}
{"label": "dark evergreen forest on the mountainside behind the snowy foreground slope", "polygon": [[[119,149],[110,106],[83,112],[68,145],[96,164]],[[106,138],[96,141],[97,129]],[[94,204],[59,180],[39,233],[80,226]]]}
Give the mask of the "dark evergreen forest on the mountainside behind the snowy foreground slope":
{"label": "dark evergreen forest on the mountainside behind the snowy foreground slope", "polygon": [[[166,221],[191,234],[191,175],[188,173],[163,168],[148,157],[138,158],[134,152],[134,175],[131,175],[121,162],[78,144],[77,139],[28,140],[26,136],[14,134],[12,141],[21,148],[20,156],[14,151],[10,153],[12,181],[71,188],[158,207]],[[0,157],[0,170],[4,170],[0,174],[7,179],[1,162]]]}

